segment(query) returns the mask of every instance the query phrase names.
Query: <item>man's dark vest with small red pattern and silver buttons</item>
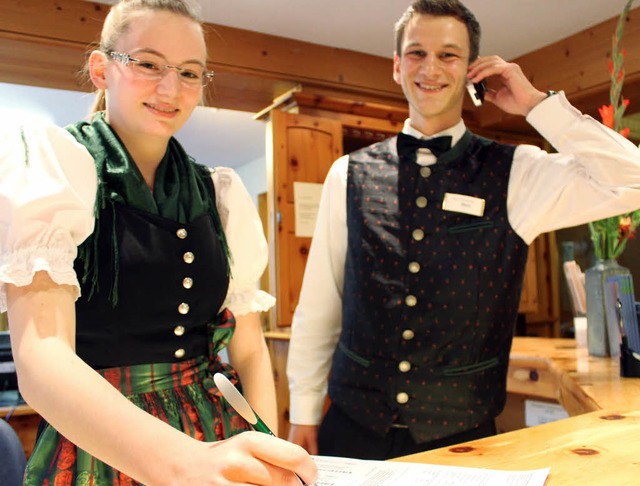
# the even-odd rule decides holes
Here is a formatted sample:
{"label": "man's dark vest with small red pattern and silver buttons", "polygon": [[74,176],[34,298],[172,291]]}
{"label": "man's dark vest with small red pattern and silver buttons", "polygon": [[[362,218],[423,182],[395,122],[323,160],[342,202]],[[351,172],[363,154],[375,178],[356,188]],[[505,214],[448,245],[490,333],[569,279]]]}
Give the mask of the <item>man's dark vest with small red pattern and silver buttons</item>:
{"label": "man's dark vest with small red pattern and silver buttons", "polygon": [[[360,424],[403,423],[421,443],[503,409],[528,251],[507,218],[514,149],[466,132],[429,167],[399,160],[396,137],[350,155],[329,396]],[[484,212],[443,210],[445,194]]]}

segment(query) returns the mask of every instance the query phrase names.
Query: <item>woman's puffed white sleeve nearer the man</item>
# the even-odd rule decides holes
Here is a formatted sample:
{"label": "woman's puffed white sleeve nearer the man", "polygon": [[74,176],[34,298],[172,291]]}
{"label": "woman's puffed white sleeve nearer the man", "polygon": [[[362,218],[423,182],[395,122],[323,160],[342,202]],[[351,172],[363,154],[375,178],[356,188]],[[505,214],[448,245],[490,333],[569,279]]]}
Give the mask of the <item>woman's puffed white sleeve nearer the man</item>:
{"label": "woman's puffed white sleeve nearer the man", "polygon": [[227,167],[211,174],[222,227],[231,252],[231,280],[223,304],[235,315],[270,309],[276,299],[258,288],[269,259],[267,241],[255,204],[240,176]]}

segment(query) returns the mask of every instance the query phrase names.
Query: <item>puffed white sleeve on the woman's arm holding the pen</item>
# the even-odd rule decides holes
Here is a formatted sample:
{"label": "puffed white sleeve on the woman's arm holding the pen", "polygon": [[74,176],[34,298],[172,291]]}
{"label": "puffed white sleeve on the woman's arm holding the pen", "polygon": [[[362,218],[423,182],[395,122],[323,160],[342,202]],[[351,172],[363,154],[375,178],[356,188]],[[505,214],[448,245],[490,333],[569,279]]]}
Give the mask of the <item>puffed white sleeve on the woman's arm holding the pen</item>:
{"label": "puffed white sleeve on the woman's arm holding the pen", "polygon": [[0,124],[0,312],[6,285],[41,270],[80,295],[73,261],[93,231],[96,187],[92,157],[63,128]]}

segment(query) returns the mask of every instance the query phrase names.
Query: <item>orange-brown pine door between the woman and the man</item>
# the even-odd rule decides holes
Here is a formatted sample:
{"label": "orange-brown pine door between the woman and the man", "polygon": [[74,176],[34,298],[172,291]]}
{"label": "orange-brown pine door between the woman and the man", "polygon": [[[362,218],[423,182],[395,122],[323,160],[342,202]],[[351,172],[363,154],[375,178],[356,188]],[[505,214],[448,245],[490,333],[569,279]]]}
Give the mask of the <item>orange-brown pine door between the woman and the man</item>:
{"label": "orange-brown pine door between the woman and the man", "polygon": [[267,124],[269,288],[276,296],[272,330],[291,325],[311,238],[295,235],[294,182],[322,184],[342,155],[339,121],[274,110]]}

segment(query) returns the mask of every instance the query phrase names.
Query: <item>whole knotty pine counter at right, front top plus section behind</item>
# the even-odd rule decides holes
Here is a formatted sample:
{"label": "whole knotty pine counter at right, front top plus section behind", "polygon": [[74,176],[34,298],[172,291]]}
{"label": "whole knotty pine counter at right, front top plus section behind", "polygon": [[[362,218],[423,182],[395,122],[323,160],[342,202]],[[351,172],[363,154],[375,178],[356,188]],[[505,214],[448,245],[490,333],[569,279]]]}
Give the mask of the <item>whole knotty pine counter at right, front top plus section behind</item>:
{"label": "whole knotty pine counter at right, front top plus section behind", "polygon": [[547,485],[640,484],[640,378],[573,339],[516,338],[510,393],[558,401],[571,417],[396,461],[488,469],[551,467]]}

